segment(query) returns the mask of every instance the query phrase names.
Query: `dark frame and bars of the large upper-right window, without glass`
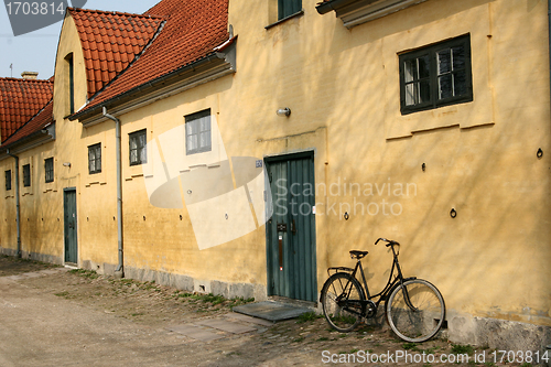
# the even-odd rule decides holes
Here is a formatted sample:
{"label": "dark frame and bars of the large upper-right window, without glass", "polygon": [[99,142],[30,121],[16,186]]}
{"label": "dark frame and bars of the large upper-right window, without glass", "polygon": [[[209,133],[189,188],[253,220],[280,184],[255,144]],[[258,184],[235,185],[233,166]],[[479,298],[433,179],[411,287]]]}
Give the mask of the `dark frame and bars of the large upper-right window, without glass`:
{"label": "dark frame and bars of the large upper-right window, without glass", "polygon": [[[439,75],[437,71],[437,53],[445,50],[463,46],[465,52],[465,83],[466,93],[460,96],[452,96],[447,98],[439,98]],[[411,60],[419,60],[422,56],[429,56],[429,77],[430,80],[430,99],[426,101],[418,102],[414,105],[406,104],[406,84],[413,84],[413,82],[406,82],[404,64]],[[399,73],[400,73],[400,112],[401,115],[409,115],[418,111],[435,109],[450,105],[457,105],[473,101],[473,71],[472,71],[472,51],[471,51],[471,34],[464,34],[451,40],[439,42],[419,50],[399,54]],[[453,72],[451,72],[453,73]],[[417,80],[421,80],[420,77]]]}

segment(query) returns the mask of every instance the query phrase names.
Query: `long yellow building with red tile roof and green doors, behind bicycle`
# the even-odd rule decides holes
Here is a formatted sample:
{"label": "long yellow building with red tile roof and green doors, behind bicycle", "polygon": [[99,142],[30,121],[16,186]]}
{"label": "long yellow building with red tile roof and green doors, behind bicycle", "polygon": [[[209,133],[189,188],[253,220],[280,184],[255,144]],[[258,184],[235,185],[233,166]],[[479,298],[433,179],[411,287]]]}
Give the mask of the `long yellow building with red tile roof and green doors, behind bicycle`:
{"label": "long yellow building with red tile roof and green doors, behind bicycle", "polygon": [[[548,33],[541,0],[69,9],[55,141],[0,147],[4,171],[8,149],[32,169],[22,253],[315,305],[350,249],[369,250],[367,280],[382,287],[391,256],[372,244],[393,238],[406,276],[444,295],[452,342],[541,349]],[[4,196],[0,246],[13,253]]]}

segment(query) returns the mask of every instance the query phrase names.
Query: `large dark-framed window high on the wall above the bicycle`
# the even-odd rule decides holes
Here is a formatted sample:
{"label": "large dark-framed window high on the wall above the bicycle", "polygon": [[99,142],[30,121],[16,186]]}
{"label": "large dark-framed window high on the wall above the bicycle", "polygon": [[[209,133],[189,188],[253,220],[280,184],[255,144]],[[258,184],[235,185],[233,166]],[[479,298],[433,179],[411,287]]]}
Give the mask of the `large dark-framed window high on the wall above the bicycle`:
{"label": "large dark-framed window high on the wall above the bicycle", "polygon": [[402,115],[473,100],[468,34],[401,54],[399,61]]}

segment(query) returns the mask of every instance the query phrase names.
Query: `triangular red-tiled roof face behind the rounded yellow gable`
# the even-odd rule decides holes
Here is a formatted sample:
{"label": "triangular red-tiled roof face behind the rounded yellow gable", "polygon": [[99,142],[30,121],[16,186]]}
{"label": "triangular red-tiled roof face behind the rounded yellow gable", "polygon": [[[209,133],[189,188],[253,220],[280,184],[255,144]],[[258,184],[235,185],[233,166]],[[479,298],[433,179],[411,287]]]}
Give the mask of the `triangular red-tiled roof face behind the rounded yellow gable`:
{"label": "triangular red-tiled roof face behind the rounded yellow gable", "polygon": [[67,8],[86,65],[88,98],[101,90],[151,42],[163,17]]}

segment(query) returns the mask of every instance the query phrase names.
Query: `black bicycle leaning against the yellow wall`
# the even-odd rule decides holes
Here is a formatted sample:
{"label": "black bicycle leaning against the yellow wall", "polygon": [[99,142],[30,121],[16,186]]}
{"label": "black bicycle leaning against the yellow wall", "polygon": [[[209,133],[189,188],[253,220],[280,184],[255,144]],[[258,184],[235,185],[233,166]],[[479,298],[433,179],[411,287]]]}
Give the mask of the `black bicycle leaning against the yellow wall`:
{"label": "black bicycle leaning against the yellow wall", "polygon": [[[430,339],[442,327],[445,320],[445,304],[440,291],[426,280],[403,278],[395,240],[379,238],[375,242],[387,242],[392,249],[393,261],[387,285],[375,295],[369,294],[361,259],[368,251],[350,250],[350,257],[357,259],[354,269],[334,267],[327,269],[329,278],[323,285],[320,302],[327,323],[338,332],[353,331],[365,319],[377,315],[379,304],[385,301],[387,322],[398,337],[406,342],[421,343]],[[356,279],[361,274],[364,287]],[[397,276],[392,280],[397,270]],[[334,271],[335,273],[331,274]],[[375,300],[378,298],[377,300]],[[375,300],[375,302],[374,302]]]}

